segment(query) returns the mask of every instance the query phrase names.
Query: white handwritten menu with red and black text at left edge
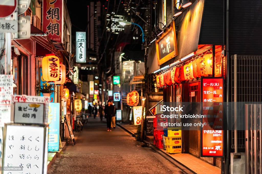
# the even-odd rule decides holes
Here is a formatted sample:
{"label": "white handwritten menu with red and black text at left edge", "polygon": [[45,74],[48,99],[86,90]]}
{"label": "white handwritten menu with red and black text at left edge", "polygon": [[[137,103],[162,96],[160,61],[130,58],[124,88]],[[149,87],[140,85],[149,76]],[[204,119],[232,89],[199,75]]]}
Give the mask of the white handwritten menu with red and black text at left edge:
{"label": "white handwritten menu with red and black text at left edge", "polygon": [[13,75],[0,75],[0,127],[11,121],[11,95]]}

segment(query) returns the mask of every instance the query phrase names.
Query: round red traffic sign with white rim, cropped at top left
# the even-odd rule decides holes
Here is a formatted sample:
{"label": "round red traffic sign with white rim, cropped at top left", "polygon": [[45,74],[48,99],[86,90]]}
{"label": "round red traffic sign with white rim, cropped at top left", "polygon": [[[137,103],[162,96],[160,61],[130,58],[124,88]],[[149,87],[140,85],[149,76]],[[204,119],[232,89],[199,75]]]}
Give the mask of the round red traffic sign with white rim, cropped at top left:
{"label": "round red traffic sign with white rim, cropped at top left", "polygon": [[0,18],[8,17],[15,12],[17,0],[0,1]]}

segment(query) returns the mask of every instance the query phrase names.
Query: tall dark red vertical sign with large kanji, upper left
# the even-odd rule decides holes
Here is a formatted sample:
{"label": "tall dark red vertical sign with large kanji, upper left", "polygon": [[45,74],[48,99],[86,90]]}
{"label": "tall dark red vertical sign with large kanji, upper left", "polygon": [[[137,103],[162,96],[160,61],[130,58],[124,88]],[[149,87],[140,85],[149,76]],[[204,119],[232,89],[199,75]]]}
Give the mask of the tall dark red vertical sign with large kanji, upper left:
{"label": "tall dark red vertical sign with large kanji, upper left", "polygon": [[43,32],[63,43],[63,0],[43,0]]}

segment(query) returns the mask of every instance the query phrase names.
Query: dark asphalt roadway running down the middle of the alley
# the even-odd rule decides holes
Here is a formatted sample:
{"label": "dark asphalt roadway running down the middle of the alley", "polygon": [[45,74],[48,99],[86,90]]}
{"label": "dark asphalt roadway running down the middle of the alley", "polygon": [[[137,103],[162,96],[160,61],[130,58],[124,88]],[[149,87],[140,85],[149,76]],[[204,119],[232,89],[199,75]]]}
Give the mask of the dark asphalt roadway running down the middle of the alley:
{"label": "dark asphalt roadway running down the middle of the alley", "polygon": [[151,148],[142,147],[122,128],[107,132],[105,119],[89,118],[76,141],[74,146],[67,145],[49,174],[184,173]]}

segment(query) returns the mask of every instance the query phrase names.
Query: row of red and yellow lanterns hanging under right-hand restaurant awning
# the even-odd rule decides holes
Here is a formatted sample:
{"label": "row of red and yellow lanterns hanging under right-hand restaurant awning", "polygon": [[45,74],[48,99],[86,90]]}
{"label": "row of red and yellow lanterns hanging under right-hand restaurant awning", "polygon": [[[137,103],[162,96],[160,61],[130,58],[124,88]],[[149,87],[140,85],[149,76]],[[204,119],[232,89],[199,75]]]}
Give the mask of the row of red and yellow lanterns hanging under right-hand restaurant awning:
{"label": "row of red and yellow lanterns hanging under right-hand restaurant awning", "polygon": [[[198,77],[205,77],[212,75],[212,71],[212,53],[208,52],[189,63],[186,63],[180,67],[173,67],[171,70],[157,75],[156,86],[171,86],[174,83],[181,83],[182,81],[189,81]],[[215,66],[215,76],[220,76],[221,74],[221,66]]]}

